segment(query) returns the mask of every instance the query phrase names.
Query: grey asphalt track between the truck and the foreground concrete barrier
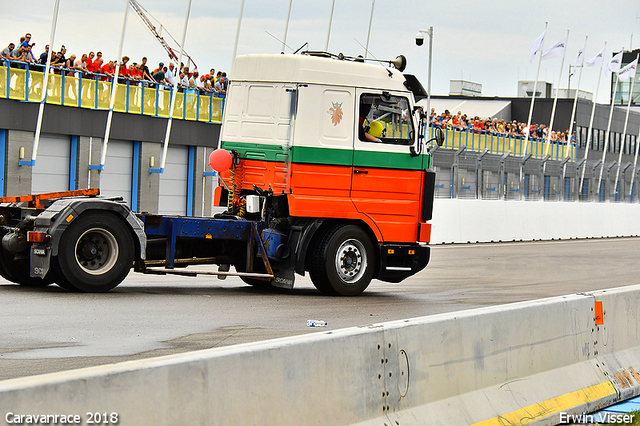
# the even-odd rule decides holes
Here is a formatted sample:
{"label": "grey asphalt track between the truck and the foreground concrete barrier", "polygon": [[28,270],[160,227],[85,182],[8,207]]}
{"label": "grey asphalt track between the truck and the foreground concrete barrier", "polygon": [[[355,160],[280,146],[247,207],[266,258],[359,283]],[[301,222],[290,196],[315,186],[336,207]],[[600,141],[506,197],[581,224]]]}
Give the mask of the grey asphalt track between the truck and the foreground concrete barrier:
{"label": "grey asphalt track between the truck and the foreground concrete barrier", "polygon": [[308,276],[271,291],[131,273],[104,294],[0,279],[0,380],[633,285],[638,253],[639,238],[434,246],[421,273],[351,298],[321,295]]}

